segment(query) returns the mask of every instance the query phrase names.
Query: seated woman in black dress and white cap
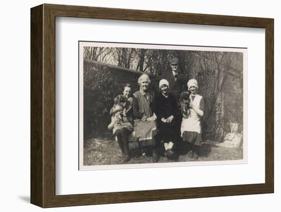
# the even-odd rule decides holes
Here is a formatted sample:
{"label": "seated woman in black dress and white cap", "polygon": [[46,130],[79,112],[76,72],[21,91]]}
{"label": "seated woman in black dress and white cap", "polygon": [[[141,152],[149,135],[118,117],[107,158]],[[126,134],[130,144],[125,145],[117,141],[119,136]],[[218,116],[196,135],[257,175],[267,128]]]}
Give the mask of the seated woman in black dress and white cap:
{"label": "seated woman in black dress and white cap", "polygon": [[159,139],[163,141],[164,156],[172,158],[174,144],[179,140],[177,130],[177,119],[179,110],[177,100],[173,93],[168,92],[169,82],[160,80],[160,94],[155,97],[155,113],[157,115],[157,126],[159,128]]}

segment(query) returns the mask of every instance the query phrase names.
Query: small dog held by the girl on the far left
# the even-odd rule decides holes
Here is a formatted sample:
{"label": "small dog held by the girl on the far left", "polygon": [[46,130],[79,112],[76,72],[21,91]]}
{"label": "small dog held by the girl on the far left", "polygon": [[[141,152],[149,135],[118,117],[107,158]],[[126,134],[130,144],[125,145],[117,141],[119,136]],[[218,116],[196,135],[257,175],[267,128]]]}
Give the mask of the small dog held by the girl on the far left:
{"label": "small dog held by the girl on the far left", "polygon": [[118,106],[122,106],[123,111],[122,112],[118,111],[112,115],[111,123],[107,126],[108,129],[112,129],[115,124],[118,124],[121,121],[123,121],[123,117],[126,117],[126,105],[127,105],[127,100],[124,95],[118,95],[114,98],[113,110]]}

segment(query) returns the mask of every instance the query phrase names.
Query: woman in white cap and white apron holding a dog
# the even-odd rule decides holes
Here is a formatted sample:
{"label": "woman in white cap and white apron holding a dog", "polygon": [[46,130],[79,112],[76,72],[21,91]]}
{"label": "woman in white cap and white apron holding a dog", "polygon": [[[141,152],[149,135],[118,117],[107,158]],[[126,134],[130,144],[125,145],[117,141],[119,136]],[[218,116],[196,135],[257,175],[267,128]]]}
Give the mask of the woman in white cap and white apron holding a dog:
{"label": "woman in white cap and white apron holding a dog", "polygon": [[189,113],[182,118],[181,135],[184,142],[189,146],[188,156],[197,159],[201,146],[201,122],[204,115],[204,99],[197,94],[198,84],[195,79],[188,82],[190,91]]}

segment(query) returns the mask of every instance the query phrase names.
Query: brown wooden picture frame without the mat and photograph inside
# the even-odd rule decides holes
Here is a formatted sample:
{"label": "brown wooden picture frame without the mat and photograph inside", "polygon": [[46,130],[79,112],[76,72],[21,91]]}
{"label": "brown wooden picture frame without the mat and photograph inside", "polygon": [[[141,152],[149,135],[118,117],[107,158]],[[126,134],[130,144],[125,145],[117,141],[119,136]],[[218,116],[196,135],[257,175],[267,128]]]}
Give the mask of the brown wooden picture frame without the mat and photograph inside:
{"label": "brown wooden picture frame without the mat and photograph inside", "polygon": [[[79,17],[265,29],[265,183],[75,195],[55,193],[55,18]],[[274,192],[273,26],[270,18],[43,4],[31,9],[31,203],[40,207]]]}

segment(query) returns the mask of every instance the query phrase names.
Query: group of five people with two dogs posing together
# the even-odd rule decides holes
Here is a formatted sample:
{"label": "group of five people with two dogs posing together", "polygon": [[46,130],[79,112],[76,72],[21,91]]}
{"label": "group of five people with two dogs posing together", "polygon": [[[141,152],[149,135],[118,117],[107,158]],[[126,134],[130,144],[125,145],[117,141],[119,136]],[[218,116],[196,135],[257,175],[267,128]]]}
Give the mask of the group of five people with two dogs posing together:
{"label": "group of five people with two dogs posing together", "polygon": [[[129,137],[133,131],[142,155],[152,155],[153,162],[159,161],[160,155],[177,158],[183,146],[189,150],[188,157],[199,157],[204,100],[197,93],[197,81],[188,81],[179,73],[177,58],[171,59],[170,66],[171,70],[153,82],[149,75],[140,75],[138,91],[132,94],[131,85],[126,84],[123,94],[114,98],[108,128],[118,140],[123,162],[131,159]],[[152,84],[157,89],[151,89]]]}

